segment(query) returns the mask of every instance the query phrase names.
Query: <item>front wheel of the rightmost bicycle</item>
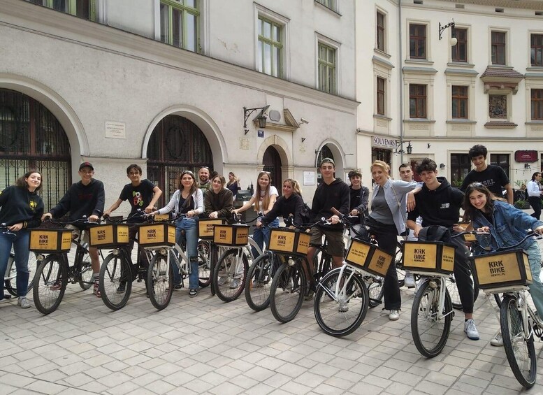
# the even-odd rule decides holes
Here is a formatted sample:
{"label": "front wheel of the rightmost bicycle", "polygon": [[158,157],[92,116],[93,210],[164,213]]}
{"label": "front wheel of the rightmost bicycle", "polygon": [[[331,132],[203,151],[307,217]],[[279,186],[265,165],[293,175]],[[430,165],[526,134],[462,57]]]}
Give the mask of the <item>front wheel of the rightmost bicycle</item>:
{"label": "front wheel of the rightmost bicycle", "polygon": [[[537,375],[534,338],[531,328],[524,328],[522,315],[516,308],[516,296],[506,295],[500,308],[503,346],[509,366],[523,387],[531,388]],[[526,338],[525,329],[530,332]]]}

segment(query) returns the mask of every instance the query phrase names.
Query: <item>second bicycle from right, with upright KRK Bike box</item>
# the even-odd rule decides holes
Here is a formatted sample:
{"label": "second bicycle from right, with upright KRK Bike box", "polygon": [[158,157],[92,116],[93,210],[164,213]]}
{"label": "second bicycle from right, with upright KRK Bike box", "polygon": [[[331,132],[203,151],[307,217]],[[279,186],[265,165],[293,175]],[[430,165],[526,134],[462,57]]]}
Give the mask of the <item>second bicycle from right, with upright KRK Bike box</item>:
{"label": "second bicycle from right, with upright KRK Bike box", "polygon": [[[462,231],[451,238],[463,234],[484,233]],[[423,276],[413,299],[411,333],[415,347],[427,358],[439,355],[449,338],[454,311],[447,279],[454,270],[455,248],[440,241],[403,242],[404,267]]]}

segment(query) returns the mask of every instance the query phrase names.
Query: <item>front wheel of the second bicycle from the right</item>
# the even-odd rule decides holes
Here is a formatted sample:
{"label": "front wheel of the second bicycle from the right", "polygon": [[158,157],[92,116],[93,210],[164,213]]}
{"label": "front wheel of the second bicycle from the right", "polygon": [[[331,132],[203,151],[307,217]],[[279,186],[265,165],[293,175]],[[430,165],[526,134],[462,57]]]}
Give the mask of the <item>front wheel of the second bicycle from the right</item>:
{"label": "front wheel of the second bicycle from the right", "polygon": [[[445,292],[445,303],[440,310],[440,295]],[[454,313],[451,296],[447,287],[441,289],[441,282],[426,280],[419,287],[411,309],[411,333],[417,350],[426,358],[433,358],[442,352]]]}

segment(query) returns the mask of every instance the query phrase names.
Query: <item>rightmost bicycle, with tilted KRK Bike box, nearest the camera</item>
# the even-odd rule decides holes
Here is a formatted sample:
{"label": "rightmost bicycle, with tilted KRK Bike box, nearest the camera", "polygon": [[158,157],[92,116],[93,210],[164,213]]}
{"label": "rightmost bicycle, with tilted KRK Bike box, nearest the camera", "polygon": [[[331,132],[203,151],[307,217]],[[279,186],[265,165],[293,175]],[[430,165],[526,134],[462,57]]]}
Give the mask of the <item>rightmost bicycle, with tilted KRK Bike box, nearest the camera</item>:
{"label": "rightmost bicycle, with tilted KRK Bike box, nearest the camera", "polygon": [[528,255],[516,247],[533,236],[535,232],[530,231],[515,245],[472,257],[475,276],[488,303],[489,296],[503,294],[499,317],[503,346],[516,380],[526,388],[533,387],[537,378],[534,334],[542,338],[543,321],[528,302],[528,285],[532,282]]}

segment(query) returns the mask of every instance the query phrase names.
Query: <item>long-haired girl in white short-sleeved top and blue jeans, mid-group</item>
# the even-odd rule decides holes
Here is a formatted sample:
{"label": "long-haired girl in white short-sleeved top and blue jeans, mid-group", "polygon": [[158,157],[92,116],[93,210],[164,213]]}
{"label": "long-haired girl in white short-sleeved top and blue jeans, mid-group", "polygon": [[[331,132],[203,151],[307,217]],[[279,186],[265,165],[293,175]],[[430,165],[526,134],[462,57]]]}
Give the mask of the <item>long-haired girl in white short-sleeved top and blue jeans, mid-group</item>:
{"label": "long-haired girl in white short-sleeved top and blue jeans, mid-group", "polygon": [[[254,194],[251,199],[237,210],[232,210],[232,213],[242,213],[250,208],[254,203],[254,210],[259,216],[257,222],[261,222],[261,218],[268,214],[273,208],[273,205],[277,200],[277,196],[279,196],[279,193],[277,192],[277,188],[271,185],[270,173],[267,171],[261,171],[259,173],[258,180],[256,180],[256,189],[254,189]],[[252,238],[256,244],[259,245],[261,250],[263,249],[265,240],[266,245],[268,245],[270,240],[270,228],[277,227],[279,227],[279,220],[275,218],[275,220],[268,224],[268,227],[254,229]],[[259,254],[256,252],[256,248],[254,247],[252,248],[252,254],[255,259],[259,256]]]}

